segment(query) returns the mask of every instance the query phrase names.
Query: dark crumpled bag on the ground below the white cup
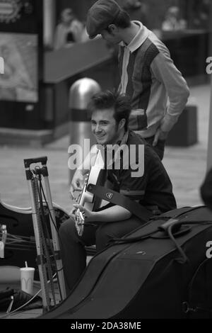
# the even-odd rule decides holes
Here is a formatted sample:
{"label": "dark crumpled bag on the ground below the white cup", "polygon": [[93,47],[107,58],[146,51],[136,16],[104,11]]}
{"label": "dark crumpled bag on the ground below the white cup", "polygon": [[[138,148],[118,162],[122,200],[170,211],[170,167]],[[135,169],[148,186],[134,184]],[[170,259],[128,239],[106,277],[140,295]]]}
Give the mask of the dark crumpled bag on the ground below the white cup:
{"label": "dark crumpled bag on the ground below the white cup", "polygon": [[[29,302],[29,303],[28,303]],[[28,304],[26,304],[28,303]],[[25,305],[26,304],[26,305]],[[11,312],[25,305],[24,310],[42,307],[42,298],[25,293],[23,290],[6,288],[0,291],[0,310]]]}

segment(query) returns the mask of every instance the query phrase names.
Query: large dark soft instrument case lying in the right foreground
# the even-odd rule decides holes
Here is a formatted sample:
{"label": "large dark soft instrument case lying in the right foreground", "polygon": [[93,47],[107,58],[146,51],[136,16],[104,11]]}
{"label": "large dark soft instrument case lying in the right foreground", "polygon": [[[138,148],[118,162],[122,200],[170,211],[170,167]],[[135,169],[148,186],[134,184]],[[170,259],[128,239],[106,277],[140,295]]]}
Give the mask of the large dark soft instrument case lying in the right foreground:
{"label": "large dark soft instrument case lying in the right foreground", "polygon": [[[161,228],[170,218],[180,222],[173,239]],[[211,210],[171,210],[96,254],[66,300],[38,318],[211,317],[210,240]]]}

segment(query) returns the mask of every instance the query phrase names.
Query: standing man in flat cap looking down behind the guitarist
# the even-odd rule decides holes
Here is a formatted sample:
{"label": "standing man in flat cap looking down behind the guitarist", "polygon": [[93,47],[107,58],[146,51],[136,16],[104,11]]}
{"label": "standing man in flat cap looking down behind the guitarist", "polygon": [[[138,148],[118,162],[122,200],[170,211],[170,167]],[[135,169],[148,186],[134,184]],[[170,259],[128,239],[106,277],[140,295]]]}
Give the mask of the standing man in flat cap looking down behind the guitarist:
{"label": "standing man in flat cap looking down behind the guitarist", "polygon": [[[139,21],[131,21],[114,0],[98,0],[88,11],[89,37],[119,44],[119,91],[131,98],[129,128],[163,159],[165,140],[182,113],[189,89],[167,47]],[[167,106],[167,99],[169,105]]]}

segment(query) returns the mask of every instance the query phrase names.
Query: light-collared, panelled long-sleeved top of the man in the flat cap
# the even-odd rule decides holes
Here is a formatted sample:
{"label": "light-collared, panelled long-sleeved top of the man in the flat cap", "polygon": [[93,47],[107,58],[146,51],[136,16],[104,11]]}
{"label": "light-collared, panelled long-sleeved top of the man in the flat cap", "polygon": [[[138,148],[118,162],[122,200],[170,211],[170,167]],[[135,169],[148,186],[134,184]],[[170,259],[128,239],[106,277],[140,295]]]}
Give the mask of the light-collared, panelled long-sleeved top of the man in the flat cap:
{"label": "light-collared, panelled long-sleeved top of the man in the flat cap", "polygon": [[164,43],[141,22],[133,22],[139,25],[138,33],[129,45],[120,43],[119,91],[131,97],[129,128],[151,137],[159,127],[170,131],[187,103],[189,89]]}

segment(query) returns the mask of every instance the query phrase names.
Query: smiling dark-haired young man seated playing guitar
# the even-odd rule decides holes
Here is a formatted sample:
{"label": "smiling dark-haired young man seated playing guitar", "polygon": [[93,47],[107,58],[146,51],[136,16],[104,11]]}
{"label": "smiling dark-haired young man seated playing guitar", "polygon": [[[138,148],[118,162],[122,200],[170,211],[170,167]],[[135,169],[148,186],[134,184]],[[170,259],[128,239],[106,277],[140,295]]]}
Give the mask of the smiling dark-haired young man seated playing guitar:
{"label": "smiling dark-haired young man seated playing guitar", "polygon": [[[133,201],[141,204],[152,213],[164,213],[176,208],[175,197],[172,193],[172,184],[165,167],[153,148],[138,134],[128,130],[131,105],[124,95],[111,91],[102,92],[91,98],[91,130],[98,145],[107,147],[111,145],[126,145],[138,148],[144,147],[142,156],[136,153],[134,165],[124,166],[124,154],[120,154],[120,166],[114,165],[114,160],[107,161],[107,179],[112,183],[113,191],[124,194]],[[144,146],[143,146],[144,145]],[[100,146],[99,146],[100,147]],[[106,161],[107,159],[105,159]],[[131,160],[133,160],[131,158]],[[112,162],[112,167],[110,162]],[[110,167],[107,167],[109,166]],[[138,169],[142,164],[144,171],[135,172],[135,164]],[[71,181],[71,198],[75,191],[81,191],[83,174],[88,170],[77,169]],[[110,191],[110,190],[109,190]],[[85,246],[96,245],[100,250],[107,247],[113,237],[123,237],[132,230],[140,227],[143,221],[132,214],[131,211],[121,205],[105,205],[95,211],[90,211],[83,205],[74,205],[84,214],[85,222],[90,222],[84,227],[83,235],[78,236],[73,218],[61,224],[59,235],[61,240],[61,255],[64,265],[66,288],[69,293],[78,282],[86,268]]]}

